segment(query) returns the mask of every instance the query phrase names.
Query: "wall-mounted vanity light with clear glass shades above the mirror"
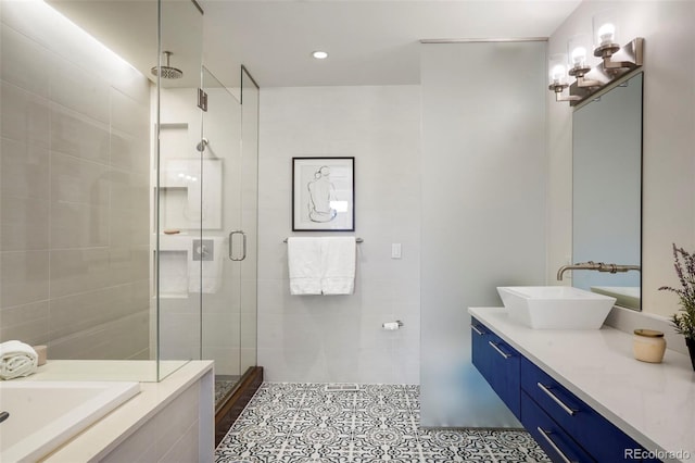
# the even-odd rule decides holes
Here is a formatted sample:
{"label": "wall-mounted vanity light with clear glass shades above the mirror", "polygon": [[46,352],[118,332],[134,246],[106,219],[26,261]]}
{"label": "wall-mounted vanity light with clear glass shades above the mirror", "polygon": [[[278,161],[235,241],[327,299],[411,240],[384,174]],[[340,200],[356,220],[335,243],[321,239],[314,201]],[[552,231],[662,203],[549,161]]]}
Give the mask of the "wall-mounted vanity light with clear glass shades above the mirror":
{"label": "wall-mounted vanity light with clear glass shades above the mirror", "polygon": [[[549,59],[549,86],[556,101],[569,101],[577,105],[611,82],[643,64],[644,39],[637,37],[620,47],[616,42],[617,21],[612,10],[593,17],[593,43],[586,35],[577,35],[567,42],[567,54],[554,54]],[[587,64],[587,54],[601,58],[595,66]],[[567,82],[567,75],[574,77]],[[564,95],[569,88],[569,95]]]}

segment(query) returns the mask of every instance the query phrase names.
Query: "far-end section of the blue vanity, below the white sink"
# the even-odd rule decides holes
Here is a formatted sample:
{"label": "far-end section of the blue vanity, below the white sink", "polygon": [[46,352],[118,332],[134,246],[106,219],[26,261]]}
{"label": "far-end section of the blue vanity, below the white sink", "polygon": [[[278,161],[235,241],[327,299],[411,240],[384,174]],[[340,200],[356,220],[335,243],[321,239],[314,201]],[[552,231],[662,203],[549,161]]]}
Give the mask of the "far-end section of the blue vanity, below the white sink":
{"label": "far-end section of the blue vanity, below the white sink", "polygon": [[519,418],[521,355],[476,318],[472,318],[470,329],[473,365],[511,413]]}

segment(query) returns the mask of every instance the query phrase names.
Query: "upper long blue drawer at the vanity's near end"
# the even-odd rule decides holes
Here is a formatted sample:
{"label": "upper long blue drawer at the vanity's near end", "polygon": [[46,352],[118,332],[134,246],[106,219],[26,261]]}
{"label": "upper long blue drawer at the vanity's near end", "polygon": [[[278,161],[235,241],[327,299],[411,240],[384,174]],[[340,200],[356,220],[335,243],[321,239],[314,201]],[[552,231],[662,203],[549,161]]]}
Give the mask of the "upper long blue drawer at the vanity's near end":
{"label": "upper long blue drawer at the vanity's near end", "polygon": [[634,462],[626,454],[639,443],[526,358],[521,389],[597,461]]}

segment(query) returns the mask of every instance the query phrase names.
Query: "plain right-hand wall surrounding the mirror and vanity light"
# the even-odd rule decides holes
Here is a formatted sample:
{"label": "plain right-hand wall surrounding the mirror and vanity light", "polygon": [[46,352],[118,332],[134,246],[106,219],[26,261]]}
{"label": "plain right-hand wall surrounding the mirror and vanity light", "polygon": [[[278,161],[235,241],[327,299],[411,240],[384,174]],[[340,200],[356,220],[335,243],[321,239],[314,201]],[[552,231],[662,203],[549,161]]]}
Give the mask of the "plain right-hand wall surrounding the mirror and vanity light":
{"label": "plain right-hand wall surrounding the mirror and vanity light", "polygon": [[[591,34],[592,15],[619,12],[618,41],[645,39],[642,210],[642,308],[668,316],[678,309],[671,243],[695,250],[695,2],[583,2],[551,36],[548,54],[565,52],[567,39]],[[571,255],[571,114],[548,91],[547,279]]]}

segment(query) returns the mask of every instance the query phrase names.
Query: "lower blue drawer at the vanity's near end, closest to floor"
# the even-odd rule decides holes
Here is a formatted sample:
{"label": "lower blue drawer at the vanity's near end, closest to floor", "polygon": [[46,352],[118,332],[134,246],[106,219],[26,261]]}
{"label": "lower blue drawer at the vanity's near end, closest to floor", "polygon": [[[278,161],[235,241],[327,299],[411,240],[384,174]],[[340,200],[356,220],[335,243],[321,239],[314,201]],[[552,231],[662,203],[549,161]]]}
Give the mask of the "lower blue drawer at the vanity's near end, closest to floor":
{"label": "lower blue drawer at the vanity's near end, closest to floor", "polygon": [[526,392],[521,392],[521,424],[552,461],[595,462]]}

